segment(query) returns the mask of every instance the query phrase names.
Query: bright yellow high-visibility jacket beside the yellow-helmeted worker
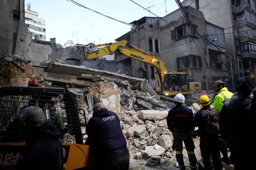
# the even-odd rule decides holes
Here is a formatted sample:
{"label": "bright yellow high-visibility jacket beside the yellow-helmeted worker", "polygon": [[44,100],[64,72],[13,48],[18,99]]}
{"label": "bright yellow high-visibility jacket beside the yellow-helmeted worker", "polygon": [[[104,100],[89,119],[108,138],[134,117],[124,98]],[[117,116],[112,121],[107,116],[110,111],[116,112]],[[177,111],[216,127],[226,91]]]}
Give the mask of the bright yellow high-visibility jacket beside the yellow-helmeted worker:
{"label": "bright yellow high-visibility jacket beside the yellow-helmeted worker", "polygon": [[224,105],[227,100],[229,100],[233,96],[233,93],[227,90],[227,88],[221,88],[218,92],[218,95],[215,96],[213,101],[213,108],[221,111],[222,106]]}

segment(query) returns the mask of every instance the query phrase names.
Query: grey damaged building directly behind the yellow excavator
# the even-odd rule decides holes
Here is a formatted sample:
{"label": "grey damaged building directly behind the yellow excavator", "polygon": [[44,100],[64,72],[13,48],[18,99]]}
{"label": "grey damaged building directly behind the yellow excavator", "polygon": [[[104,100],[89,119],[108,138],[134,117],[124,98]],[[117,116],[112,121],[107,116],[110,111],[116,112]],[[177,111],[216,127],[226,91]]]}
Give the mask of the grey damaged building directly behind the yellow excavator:
{"label": "grey damaged building directly behind the yellow excavator", "polygon": [[[205,36],[202,40],[183,17],[180,9],[162,17],[143,17],[132,22],[131,31],[116,39],[126,39],[137,46],[164,60],[170,72],[186,72],[191,81],[202,82],[205,89],[207,83],[212,87],[212,82],[220,77],[228,77],[226,59],[223,57],[226,48],[223,28],[207,22],[204,14],[191,6],[185,7],[197,31],[201,35],[221,34],[215,40],[220,50],[207,45],[211,37]],[[157,86],[156,69],[152,65],[116,56],[116,61],[131,63],[134,77],[148,79],[151,86]]]}

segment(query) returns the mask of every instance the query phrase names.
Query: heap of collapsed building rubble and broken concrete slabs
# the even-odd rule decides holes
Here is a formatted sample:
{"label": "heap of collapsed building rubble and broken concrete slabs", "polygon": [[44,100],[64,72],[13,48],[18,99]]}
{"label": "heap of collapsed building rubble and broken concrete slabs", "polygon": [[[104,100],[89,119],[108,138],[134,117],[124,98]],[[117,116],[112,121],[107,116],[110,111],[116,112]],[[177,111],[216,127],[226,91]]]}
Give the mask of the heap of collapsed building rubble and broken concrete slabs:
{"label": "heap of collapsed building rubble and broken concrete slabs", "polygon": [[[1,86],[26,86],[29,80],[41,79],[29,62],[18,56],[8,54],[0,57],[0,64]],[[54,62],[54,65],[55,64]],[[56,65],[61,66],[61,71],[64,70],[64,63]],[[68,65],[67,67],[70,66]],[[42,75],[44,79],[40,84],[46,87],[69,86],[68,81],[64,81],[60,85],[58,83],[62,80],[58,80],[56,81],[58,83],[56,83],[53,81],[54,79],[47,77],[47,74],[49,75],[47,71],[51,71],[53,68],[54,66],[43,68],[44,72]],[[79,69],[80,71],[84,68],[75,69]],[[13,74],[9,75],[9,72]],[[52,73],[53,72],[60,74],[57,69],[52,71]],[[65,75],[67,74],[66,71]],[[6,75],[9,75],[9,77]],[[17,75],[16,79],[20,78],[23,79],[23,81],[18,80],[15,84],[16,80],[10,81],[12,80],[11,75]],[[89,72],[84,70],[80,71],[76,76],[84,77],[87,82],[90,82],[86,84],[83,82],[81,83],[82,85],[73,82],[76,87],[81,87],[84,90],[84,95],[77,97],[78,108],[85,111],[85,113],[83,110],[79,111],[83,142],[85,142],[88,137],[85,134],[85,125],[93,114],[87,102],[87,94],[89,94],[93,96],[93,103],[103,102],[110,111],[116,112],[119,116],[120,126],[127,140],[131,160],[145,161],[145,164],[149,166],[155,166],[161,162],[169,162],[172,166],[175,166],[175,152],[172,150],[173,137],[166,123],[166,116],[168,111],[172,108],[172,105],[168,101],[160,100],[159,96],[152,91],[152,88],[146,80],[133,79],[125,76],[123,76],[124,79],[122,79],[123,77],[118,74],[107,74],[104,71],[96,72],[94,69],[90,69]],[[66,112],[60,102],[61,96],[57,98],[56,101],[58,102],[55,107],[58,111],[61,111],[65,119]],[[200,110],[200,106],[197,103],[189,107],[192,109],[193,113]],[[72,141],[73,136],[66,133],[64,140]]]}

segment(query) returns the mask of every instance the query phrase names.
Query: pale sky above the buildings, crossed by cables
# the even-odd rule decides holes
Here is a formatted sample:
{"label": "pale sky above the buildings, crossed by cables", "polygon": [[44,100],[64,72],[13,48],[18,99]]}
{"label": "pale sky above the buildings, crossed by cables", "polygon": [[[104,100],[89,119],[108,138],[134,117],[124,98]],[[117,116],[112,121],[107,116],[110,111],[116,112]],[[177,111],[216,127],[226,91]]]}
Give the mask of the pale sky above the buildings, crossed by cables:
{"label": "pale sky above the buildings, crossed by cables", "polygon": [[[149,12],[131,0],[75,0],[87,8],[118,20],[131,23]],[[133,0],[144,8],[163,17],[178,8],[175,0]],[[67,0],[25,0],[31,3],[30,10],[38,12],[45,19],[46,40],[55,37],[56,43],[64,45],[67,40],[79,44],[115,42],[115,39],[131,30],[131,26],[119,23],[94,11],[76,6]],[[150,14],[151,17],[155,17]]]}

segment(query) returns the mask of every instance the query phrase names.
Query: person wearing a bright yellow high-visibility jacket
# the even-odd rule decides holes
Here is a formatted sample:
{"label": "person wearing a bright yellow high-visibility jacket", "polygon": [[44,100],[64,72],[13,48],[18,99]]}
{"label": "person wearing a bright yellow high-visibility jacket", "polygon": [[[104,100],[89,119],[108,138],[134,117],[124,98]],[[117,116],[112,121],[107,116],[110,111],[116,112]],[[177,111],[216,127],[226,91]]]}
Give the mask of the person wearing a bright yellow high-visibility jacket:
{"label": "person wearing a bright yellow high-visibility jacket", "polygon": [[[214,98],[213,108],[221,111],[222,106],[231,98],[231,96],[233,96],[233,93],[227,90],[225,83],[221,80],[215,81],[213,83],[213,89],[216,93],[218,93]],[[219,140],[221,153],[223,155],[222,161],[230,165],[231,161],[228,157],[229,150],[227,148],[227,142],[221,137],[221,135],[219,135]]]}

